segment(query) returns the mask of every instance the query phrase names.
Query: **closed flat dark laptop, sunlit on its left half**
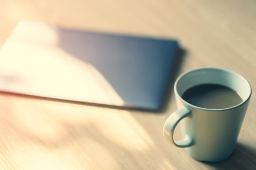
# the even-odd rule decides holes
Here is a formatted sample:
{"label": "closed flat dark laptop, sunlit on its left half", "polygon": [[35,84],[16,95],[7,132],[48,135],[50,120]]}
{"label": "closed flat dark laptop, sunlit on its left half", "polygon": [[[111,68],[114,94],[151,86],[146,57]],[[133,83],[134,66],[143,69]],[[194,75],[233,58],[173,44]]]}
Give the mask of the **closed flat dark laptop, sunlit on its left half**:
{"label": "closed flat dark laptop, sunlit on its left half", "polygon": [[177,51],[170,39],[21,21],[0,49],[0,91],[157,110]]}

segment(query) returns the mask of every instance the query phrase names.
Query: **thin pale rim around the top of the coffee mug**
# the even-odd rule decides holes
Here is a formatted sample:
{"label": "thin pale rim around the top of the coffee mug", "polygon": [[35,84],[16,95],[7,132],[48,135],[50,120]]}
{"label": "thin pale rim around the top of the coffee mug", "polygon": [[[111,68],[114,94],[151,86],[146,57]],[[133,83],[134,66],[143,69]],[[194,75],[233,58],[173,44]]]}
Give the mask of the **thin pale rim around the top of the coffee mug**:
{"label": "thin pale rim around the top of the coffee mug", "polygon": [[[216,70],[221,70],[221,71],[226,71],[226,72],[229,72],[229,73],[232,73],[232,74],[235,74],[237,76],[239,76],[240,78],[242,78],[243,80],[245,80],[245,82],[249,85],[249,90],[250,90],[250,94],[248,95],[248,97],[246,98],[246,100],[240,102],[239,104],[236,104],[235,106],[232,106],[232,107],[227,107],[227,108],[223,108],[223,109],[210,109],[210,108],[203,108],[203,107],[199,107],[199,106],[196,106],[196,105],[193,105],[187,101],[185,101],[184,99],[182,99],[182,97],[179,95],[179,93],[177,92],[177,82],[186,74],[188,73],[191,73],[191,72],[194,72],[194,71],[198,71],[198,70],[201,70],[201,69],[216,69]],[[241,76],[240,74],[236,73],[235,71],[232,71],[232,70],[229,70],[229,69],[225,69],[225,68],[217,68],[217,67],[203,67],[203,68],[195,68],[195,69],[191,69],[191,70],[188,70],[184,73],[182,73],[180,76],[178,76],[177,80],[175,81],[175,84],[174,84],[174,92],[175,94],[178,96],[178,98],[182,101],[182,102],[185,102],[187,105],[191,106],[191,107],[195,107],[197,109],[200,109],[200,110],[207,110],[207,111],[224,111],[224,110],[230,110],[230,109],[233,109],[233,108],[236,108],[240,105],[243,105],[244,103],[246,103],[247,101],[249,101],[249,99],[251,98],[251,95],[252,95],[252,87],[250,85],[250,83],[243,77]]]}

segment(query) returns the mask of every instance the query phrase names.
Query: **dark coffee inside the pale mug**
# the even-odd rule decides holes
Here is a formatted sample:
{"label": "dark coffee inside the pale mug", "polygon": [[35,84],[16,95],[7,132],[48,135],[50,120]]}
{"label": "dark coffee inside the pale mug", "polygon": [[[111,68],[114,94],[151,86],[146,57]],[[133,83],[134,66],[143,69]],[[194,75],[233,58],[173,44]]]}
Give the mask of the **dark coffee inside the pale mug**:
{"label": "dark coffee inside the pale mug", "polygon": [[236,91],[217,84],[193,86],[183,93],[182,98],[190,104],[208,109],[228,108],[242,102]]}

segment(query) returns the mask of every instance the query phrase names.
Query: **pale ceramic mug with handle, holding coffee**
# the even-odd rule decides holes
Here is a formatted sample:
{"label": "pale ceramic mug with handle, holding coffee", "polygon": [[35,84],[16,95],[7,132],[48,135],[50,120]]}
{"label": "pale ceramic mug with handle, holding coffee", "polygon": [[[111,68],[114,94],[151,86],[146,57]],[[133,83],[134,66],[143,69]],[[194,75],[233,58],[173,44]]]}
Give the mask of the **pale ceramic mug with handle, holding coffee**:
{"label": "pale ceramic mug with handle, holding coffee", "polygon": [[[224,109],[197,107],[181,96],[192,86],[201,84],[225,85],[237,92],[242,102]],[[164,137],[177,147],[186,148],[200,161],[225,160],[234,151],[236,140],[247,110],[252,89],[239,74],[222,68],[199,68],[178,77],[174,91],[178,110],[164,123]],[[185,119],[184,119],[185,118]],[[180,122],[183,139],[175,141],[174,130]]]}

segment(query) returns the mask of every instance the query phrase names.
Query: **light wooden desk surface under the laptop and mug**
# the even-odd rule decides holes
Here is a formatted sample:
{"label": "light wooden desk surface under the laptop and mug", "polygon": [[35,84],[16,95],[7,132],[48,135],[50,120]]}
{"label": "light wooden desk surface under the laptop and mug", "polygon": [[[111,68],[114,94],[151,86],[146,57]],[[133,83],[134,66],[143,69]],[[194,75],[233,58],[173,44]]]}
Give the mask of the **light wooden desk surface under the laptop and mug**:
{"label": "light wooden desk surface under the laptop and mug", "polygon": [[[198,67],[232,69],[256,89],[255,0],[0,0],[0,44],[21,19],[67,28],[176,38],[177,76]],[[233,155],[202,163],[162,136],[176,110],[172,90],[159,113],[0,93],[0,167],[21,170],[256,169],[256,97]],[[178,133],[176,137],[179,138]]]}

